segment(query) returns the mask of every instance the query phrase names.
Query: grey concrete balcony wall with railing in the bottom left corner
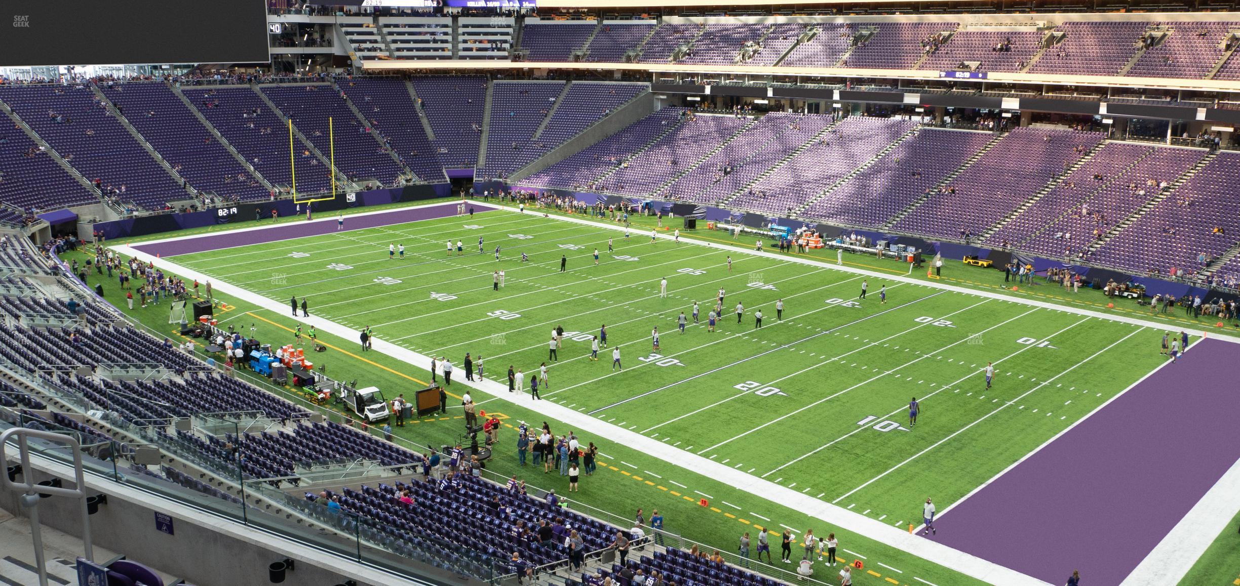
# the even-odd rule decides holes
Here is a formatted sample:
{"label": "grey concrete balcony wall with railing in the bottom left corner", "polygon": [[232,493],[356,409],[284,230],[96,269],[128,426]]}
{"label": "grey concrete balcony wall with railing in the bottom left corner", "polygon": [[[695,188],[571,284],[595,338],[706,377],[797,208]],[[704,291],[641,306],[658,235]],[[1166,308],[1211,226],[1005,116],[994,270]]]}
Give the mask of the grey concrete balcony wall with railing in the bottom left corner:
{"label": "grey concrete balcony wall with railing in the bottom left corner", "polygon": [[[41,481],[53,474],[63,478],[64,487],[72,488],[72,474],[60,463],[47,462],[33,465],[38,468],[26,472],[27,478]],[[19,477],[22,478],[22,477]],[[373,567],[357,564],[339,555],[309,546],[306,543],[290,541],[283,536],[262,531],[254,527],[242,525],[232,519],[221,518],[187,507],[177,501],[140,492],[134,487],[107,479],[87,477],[91,493],[108,496],[108,502],[99,512],[91,515],[91,534],[94,544],[124,554],[130,560],[159,569],[166,574],[184,577],[197,586],[236,586],[269,584],[268,566],[285,558],[295,561],[295,570],[286,574],[284,584],[299,586],[334,586],[346,580],[356,580],[360,586],[374,585],[420,585],[420,584],[460,584],[463,586],[481,585],[476,580],[456,576],[443,570],[424,569],[424,580],[405,580],[382,572]],[[192,493],[197,494],[197,493]],[[19,494],[0,489],[0,508],[14,514],[27,517],[17,503]],[[210,503],[222,501],[203,497]],[[52,497],[40,501],[40,522],[71,535],[82,535],[81,504],[78,501]],[[174,519],[174,534],[169,535],[155,527],[155,513],[165,513]],[[239,505],[233,510],[241,514]],[[250,520],[255,525],[294,524],[284,517],[274,518],[253,510]],[[294,524],[294,527],[296,527]],[[305,529],[303,529],[305,530]],[[326,539],[316,538],[321,541]],[[337,544],[347,540],[336,539]],[[356,555],[356,550],[353,551]],[[378,560],[378,551],[367,551],[365,559]],[[391,562],[413,565],[410,560],[394,559]],[[107,560],[95,560],[107,561]]]}

